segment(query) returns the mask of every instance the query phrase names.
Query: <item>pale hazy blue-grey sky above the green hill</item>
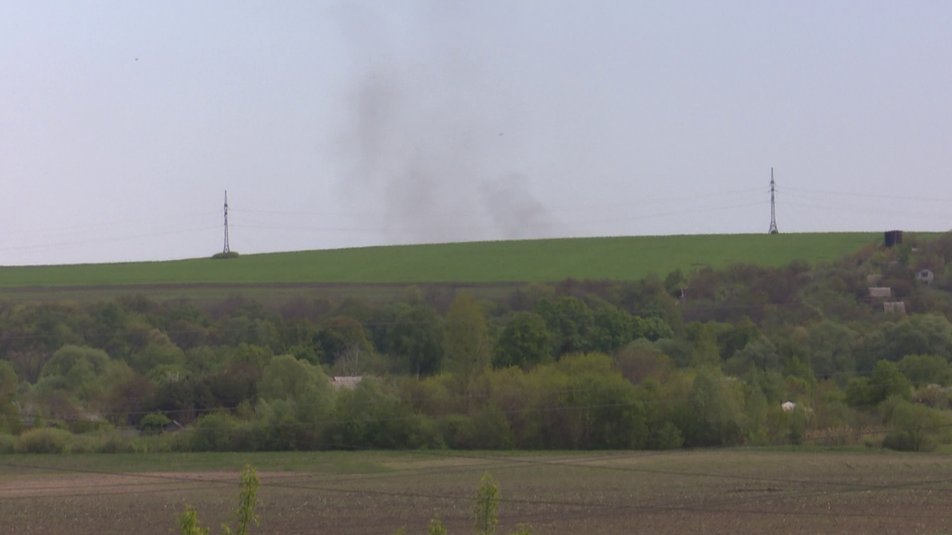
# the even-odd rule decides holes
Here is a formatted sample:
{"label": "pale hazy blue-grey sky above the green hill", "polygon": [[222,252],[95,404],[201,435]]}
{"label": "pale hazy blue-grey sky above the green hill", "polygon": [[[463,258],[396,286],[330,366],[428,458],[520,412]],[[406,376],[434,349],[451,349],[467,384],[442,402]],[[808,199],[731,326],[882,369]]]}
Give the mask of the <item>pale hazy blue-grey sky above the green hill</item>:
{"label": "pale hazy blue-grey sky above the green hill", "polygon": [[0,3],[0,265],[952,228],[952,3]]}

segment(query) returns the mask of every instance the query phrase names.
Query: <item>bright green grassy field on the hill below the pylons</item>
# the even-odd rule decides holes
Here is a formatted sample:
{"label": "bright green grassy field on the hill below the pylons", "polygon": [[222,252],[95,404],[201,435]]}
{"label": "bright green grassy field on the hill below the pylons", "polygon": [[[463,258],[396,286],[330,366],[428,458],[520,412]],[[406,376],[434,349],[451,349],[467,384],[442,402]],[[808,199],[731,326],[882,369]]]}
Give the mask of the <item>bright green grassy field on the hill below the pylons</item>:
{"label": "bright green grassy field on the hill below the pylons", "polygon": [[878,233],[573,238],[271,253],[231,260],[3,267],[0,288],[637,280],[701,266],[831,261],[881,239]]}

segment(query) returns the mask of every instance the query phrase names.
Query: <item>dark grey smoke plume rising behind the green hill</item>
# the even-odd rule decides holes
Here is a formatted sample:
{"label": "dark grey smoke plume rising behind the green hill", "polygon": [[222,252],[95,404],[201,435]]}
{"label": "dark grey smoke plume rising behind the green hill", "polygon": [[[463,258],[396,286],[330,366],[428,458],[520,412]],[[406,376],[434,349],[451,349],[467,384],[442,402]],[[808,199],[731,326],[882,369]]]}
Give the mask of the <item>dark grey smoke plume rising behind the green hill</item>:
{"label": "dark grey smoke plume rising behind the green hill", "polygon": [[[384,25],[362,13],[363,30]],[[368,22],[369,20],[369,22]],[[427,27],[420,21],[420,29]],[[441,242],[543,236],[552,223],[529,177],[514,170],[501,143],[507,119],[479,63],[428,52],[422,63],[395,53],[386,28],[354,43],[358,71],[347,101],[344,190],[374,212],[388,242]],[[359,33],[366,35],[366,33]],[[434,50],[440,43],[433,43]],[[383,61],[374,58],[380,55]],[[507,162],[506,160],[509,160]]]}

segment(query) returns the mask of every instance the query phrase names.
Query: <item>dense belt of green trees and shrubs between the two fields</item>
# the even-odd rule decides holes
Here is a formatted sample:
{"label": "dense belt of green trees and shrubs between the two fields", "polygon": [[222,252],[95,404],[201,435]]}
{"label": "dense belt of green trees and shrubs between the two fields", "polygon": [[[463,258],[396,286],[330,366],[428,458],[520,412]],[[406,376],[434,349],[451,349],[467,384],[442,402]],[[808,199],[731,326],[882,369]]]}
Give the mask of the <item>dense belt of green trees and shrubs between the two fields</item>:
{"label": "dense belt of green trees and shrubs between the two fields", "polygon": [[930,449],[950,439],[950,261],[943,235],[491,301],[6,304],[0,449]]}

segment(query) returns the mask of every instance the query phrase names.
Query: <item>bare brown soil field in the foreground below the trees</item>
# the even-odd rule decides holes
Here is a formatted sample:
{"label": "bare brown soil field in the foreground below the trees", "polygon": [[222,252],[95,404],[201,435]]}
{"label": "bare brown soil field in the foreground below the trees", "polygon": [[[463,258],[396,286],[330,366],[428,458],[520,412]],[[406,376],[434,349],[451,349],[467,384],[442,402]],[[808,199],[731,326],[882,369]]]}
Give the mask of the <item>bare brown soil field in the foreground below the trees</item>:
{"label": "bare brown soil field in the foreground below the trees", "polygon": [[[952,457],[941,454],[269,455],[244,456],[261,478],[253,533],[422,534],[433,517],[472,533],[485,472],[500,487],[499,533],[519,522],[536,534],[952,533]],[[185,503],[215,533],[237,503],[240,467],[216,457],[201,469],[176,454],[117,456],[116,470],[108,455],[69,457],[0,456],[3,533],[170,534]]]}

